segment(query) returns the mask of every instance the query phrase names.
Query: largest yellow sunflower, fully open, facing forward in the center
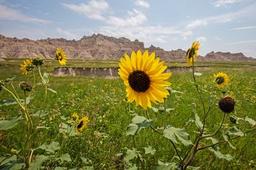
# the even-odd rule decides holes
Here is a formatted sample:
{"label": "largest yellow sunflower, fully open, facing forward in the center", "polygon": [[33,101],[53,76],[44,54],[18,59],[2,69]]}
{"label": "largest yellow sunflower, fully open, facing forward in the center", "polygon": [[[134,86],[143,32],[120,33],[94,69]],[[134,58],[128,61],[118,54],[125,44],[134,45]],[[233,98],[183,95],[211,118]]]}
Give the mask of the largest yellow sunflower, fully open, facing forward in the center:
{"label": "largest yellow sunflower, fully open, facing forward in the center", "polygon": [[165,86],[171,84],[165,81],[171,73],[163,73],[167,69],[164,62],[159,62],[155,53],[148,56],[148,50],[143,54],[140,50],[137,54],[132,51],[131,58],[127,54],[124,57],[118,64],[118,74],[126,85],[128,101],[135,101],[136,106],[140,105],[143,109],[151,107],[151,101],[155,104],[164,102],[169,95]]}

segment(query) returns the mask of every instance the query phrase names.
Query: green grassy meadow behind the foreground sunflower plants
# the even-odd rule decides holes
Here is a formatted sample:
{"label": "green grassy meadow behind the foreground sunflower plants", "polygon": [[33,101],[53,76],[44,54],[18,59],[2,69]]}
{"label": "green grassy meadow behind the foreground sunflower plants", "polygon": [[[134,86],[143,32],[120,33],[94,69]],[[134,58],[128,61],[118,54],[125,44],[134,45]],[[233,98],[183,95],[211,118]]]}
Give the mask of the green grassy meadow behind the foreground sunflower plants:
{"label": "green grassy meadow behind the foreground sunflower plants", "polygon": [[[0,79],[5,80],[16,75],[12,84],[17,87],[19,96],[23,96],[23,91],[18,88],[19,83],[26,81],[33,84],[34,81],[32,74],[21,74],[19,66],[21,63],[22,60],[12,59],[0,63]],[[165,64],[168,67],[187,66],[183,61],[169,61]],[[59,65],[45,61],[41,72],[51,72],[55,66]],[[67,66],[113,68],[118,67],[118,61],[72,60],[67,61]],[[223,115],[218,108],[222,92],[212,92],[213,74],[217,72],[225,72],[230,77],[227,94],[236,101],[235,111],[227,115],[221,132],[224,133],[227,128],[234,125],[241,131],[255,127],[244,121],[244,118],[250,117],[256,120],[256,63],[198,61],[196,66],[211,66],[209,70],[200,71],[202,76],[197,77],[197,85],[206,105],[209,96],[214,93],[214,97],[211,98],[214,105],[206,121],[206,131],[209,134],[216,131]],[[149,127],[141,129],[135,136],[136,149],[139,151],[137,153],[142,159],[137,156],[127,158],[132,148],[135,148],[132,136],[127,135],[127,127],[132,123],[135,115],[147,116],[142,107],[136,107],[134,102],[130,105],[127,103],[125,86],[119,77],[113,79],[51,75],[49,77],[49,88],[56,93],[49,90],[48,96],[44,98],[44,86],[38,85],[35,88],[37,93],[33,93],[29,103],[29,112],[37,127],[31,136],[31,148],[34,149],[31,160],[37,160],[39,155],[48,156],[45,160],[42,159],[40,169],[156,169],[161,163],[178,161],[176,151],[169,140],[154,133]],[[36,82],[40,82],[37,72],[36,78]],[[192,72],[173,72],[167,81],[172,83],[170,88],[173,92],[166,99],[167,125],[176,128],[185,127],[193,141],[198,129],[195,114],[203,117],[203,108],[192,82]],[[18,104],[9,105],[2,102],[9,99],[12,99],[10,93],[1,90],[0,120],[23,117]],[[153,104],[153,108],[148,109],[154,127],[159,129],[164,120],[163,105]],[[89,117],[89,123],[80,135],[71,135],[67,132],[73,113],[77,113],[79,117]],[[238,121],[234,122],[233,119]],[[2,166],[3,169],[8,167],[15,169],[15,166],[10,165],[17,160],[19,151],[23,147],[24,134],[26,134],[24,127],[24,123],[20,121],[15,127],[0,131],[0,167]],[[216,139],[222,141],[223,133],[217,134]],[[204,140],[200,144],[204,146],[209,143],[211,142]],[[230,147],[230,144],[233,147]],[[226,142],[219,145],[219,150],[222,154],[232,155],[232,160],[217,158],[210,150],[199,151],[189,169],[256,169],[256,131],[250,131],[246,136],[230,141],[230,144]],[[176,144],[176,146],[181,155],[186,155],[188,146],[184,144]],[[12,149],[17,150],[14,151],[15,154],[11,152]],[[56,152],[58,155],[67,155],[56,159]],[[12,162],[8,167],[4,166],[7,161]],[[39,166],[39,164],[33,165],[33,167]],[[161,169],[159,167],[157,169]],[[170,166],[161,167],[170,169]]]}

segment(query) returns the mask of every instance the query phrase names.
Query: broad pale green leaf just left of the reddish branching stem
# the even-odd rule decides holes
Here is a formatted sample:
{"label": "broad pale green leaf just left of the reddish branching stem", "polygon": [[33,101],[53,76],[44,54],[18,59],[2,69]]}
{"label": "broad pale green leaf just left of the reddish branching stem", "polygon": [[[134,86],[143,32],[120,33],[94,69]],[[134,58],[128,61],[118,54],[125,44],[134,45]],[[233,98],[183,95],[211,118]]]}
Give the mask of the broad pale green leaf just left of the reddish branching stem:
{"label": "broad pale green leaf just left of the reddish branching stem", "polygon": [[167,125],[167,128],[163,131],[163,135],[176,144],[178,144],[176,137],[186,146],[192,144],[189,139],[189,134],[187,134],[184,128],[174,128],[171,125]]}

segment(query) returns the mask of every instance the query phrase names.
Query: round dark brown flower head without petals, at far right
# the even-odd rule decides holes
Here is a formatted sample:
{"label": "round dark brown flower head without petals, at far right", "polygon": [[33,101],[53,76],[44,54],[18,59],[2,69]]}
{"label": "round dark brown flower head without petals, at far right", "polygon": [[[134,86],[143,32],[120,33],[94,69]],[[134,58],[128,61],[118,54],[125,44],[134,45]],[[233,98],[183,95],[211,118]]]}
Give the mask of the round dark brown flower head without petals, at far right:
{"label": "round dark brown flower head without petals, at far right", "polygon": [[233,112],[235,107],[235,101],[230,96],[224,96],[219,99],[219,109],[225,113]]}

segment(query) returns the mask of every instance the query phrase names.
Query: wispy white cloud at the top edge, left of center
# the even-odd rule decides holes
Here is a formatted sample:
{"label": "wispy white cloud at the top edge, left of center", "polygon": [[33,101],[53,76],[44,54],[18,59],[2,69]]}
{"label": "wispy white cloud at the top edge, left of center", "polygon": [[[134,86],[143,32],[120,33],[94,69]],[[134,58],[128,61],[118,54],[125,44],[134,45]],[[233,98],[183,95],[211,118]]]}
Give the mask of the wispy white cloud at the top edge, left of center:
{"label": "wispy white cloud at the top edge, left of center", "polygon": [[90,0],[88,4],[62,4],[64,7],[71,9],[88,18],[95,20],[105,20],[104,14],[108,11],[108,3],[105,0]]}

